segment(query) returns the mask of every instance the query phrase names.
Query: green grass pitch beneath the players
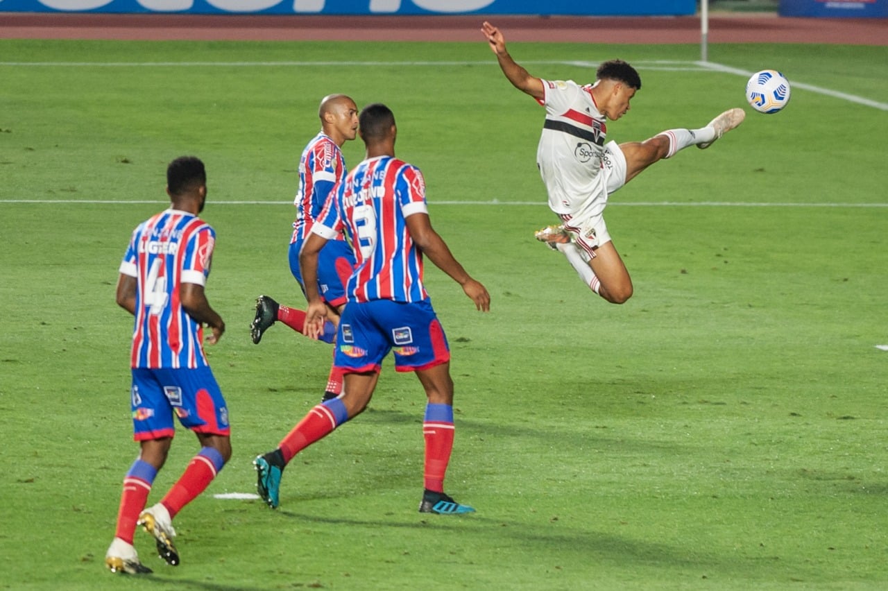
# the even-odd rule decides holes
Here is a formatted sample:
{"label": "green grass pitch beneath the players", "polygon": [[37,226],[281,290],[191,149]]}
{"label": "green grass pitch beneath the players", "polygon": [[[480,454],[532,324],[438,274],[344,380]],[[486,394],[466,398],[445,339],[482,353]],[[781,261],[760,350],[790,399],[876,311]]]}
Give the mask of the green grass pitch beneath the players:
{"label": "green grass pitch beneath the players", "polygon": [[[718,45],[710,59],[884,100],[886,51]],[[630,114],[609,125],[618,142],[702,125],[743,101],[745,77],[694,67],[693,46],[514,43],[511,52],[533,74],[578,81],[593,71],[532,62],[647,62]],[[481,40],[0,41],[0,55],[471,62],[0,66],[0,586],[888,584],[886,353],[875,348],[888,343],[888,211],[830,205],[884,203],[884,110],[794,88],[783,113],[749,109],[717,146],[633,180],[607,209],[636,285],[618,307],[533,240],[554,219],[534,166],[543,112],[511,89]],[[687,63],[674,71],[654,60]],[[326,380],[329,347],[285,327],[257,347],[247,328],[260,293],[302,302],[286,267],[284,203],[329,91],[392,106],[399,155],[424,170],[433,224],[493,296],[481,315],[429,265],[454,357],[448,492],[477,515],[416,513],[424,397],[391,363],[369,411],[291,463],[278,511],[212,498],[255,490],[253,455],[317,402]],[[137,453],[131,319],[114,303],[116,267],[131,228],[165,207],[163,170],[180,154],[201,156],[210,175],[203,217],[218,248],[208,294],[228,332],[208,350],[231,409],[234,457],[176,519],[181,566],[166,568],[137,532],[155,575],[123,581],[102,571]],[[350,165],[361,155],[360,140],[346,144]],[[500,203],[471,203],[492,200]],[[707,201],[738,205],[695,205]],[[530,202],[539,204],[516,204]],[[681,205],[656,205],[668,202]],[[149,502],[195,450],[179,429]]]}

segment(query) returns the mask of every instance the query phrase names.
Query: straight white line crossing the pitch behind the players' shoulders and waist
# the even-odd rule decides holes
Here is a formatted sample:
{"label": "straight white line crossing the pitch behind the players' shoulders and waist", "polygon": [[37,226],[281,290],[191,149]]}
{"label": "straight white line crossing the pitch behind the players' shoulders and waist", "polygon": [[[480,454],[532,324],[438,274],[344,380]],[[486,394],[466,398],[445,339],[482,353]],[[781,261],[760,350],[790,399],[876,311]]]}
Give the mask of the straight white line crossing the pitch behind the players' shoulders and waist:
{"label": "straight white line crossing the pitch behind the players' shoulders and waist", "polygon": [[[59,203],[83,203],[87,205],[136,205],[136,204],[155,204],[163,207],[169,205],[169,201],[147,201],[147,200],[99,200],[99,199],[0,199],[0,204],[4,203],[30,203],[35,205],[58,205]],[[472,205],[472,206],[490,206],[490,205],[506,205],[506,206],[546,206],[548,203],[541,201],[499,201],[492,199],[490,201],[429,201],[430,205]],[[210,201],[210,206],[216,205],[289,205],[292,207],[292,201]],[[643,208],[888,208],[888,203],[763,203],[752,202],[743,203],[741,201],[637,201],[634,203],[609,202],[607,207],[643,207]]]}

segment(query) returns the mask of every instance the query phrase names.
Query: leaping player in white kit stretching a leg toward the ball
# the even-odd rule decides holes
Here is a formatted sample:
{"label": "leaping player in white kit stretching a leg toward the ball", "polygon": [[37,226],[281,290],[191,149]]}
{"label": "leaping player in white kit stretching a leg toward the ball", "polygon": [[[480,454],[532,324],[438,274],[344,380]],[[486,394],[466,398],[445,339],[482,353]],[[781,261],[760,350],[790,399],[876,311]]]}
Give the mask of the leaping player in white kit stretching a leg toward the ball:
{"label": "leaping player in white kit stretching a leg toward the ball", "polygon": [[606,143],[607,120],[629,111],[641,88],[635,68],[614,59],[602,63],[594,84],[536,78],[511,59],[503,33],[489,22],[481,32],[509,82],[546,109],[536,164],[560,225],[536,232],[559,250],[592,291],[611,303],[632,296],[632,280],[607,233],[602,214],[607,196],[654,162],[688,146],[708,148],[746,116],[741,108],[719,114],[696,130],[666,130],[643,142]]}

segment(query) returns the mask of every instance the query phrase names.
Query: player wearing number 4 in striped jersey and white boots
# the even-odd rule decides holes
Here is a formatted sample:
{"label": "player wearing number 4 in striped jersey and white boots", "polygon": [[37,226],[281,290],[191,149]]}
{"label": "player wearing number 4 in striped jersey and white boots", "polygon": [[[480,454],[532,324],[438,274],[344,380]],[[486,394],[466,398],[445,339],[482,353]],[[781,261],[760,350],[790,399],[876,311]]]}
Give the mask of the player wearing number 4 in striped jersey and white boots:
{"label": "player wearing number 4 in striped jersey and white boots", "polygon": [[[167,168],[170,208],[140,224],[120,265],[117,303],[135,316],[131,349],[134,439],[141,451],[123,478],[115,539],[105,556],[112,572],[140,574],[136,525],[155,537],[157,553],[178,564],[172,518],[210,485],[231,457],[228,409],[203,353],[203,325],[218,343],[225,322],[204,286],[216,232],[197,215],[207,197],[203,162],[183,156]],[[145,508],[175,434],[173,414],[194,431],[201,451],[153,507]]]}

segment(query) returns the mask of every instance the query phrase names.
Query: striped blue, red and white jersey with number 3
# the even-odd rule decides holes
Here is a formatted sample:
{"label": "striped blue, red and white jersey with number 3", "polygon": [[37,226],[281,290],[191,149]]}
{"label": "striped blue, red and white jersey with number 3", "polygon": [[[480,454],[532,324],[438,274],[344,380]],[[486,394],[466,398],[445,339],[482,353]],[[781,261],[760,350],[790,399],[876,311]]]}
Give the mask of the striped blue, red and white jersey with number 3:
{"label": "striped blue, red and white jersey with number 3", "polygon": [[357,264],[345,288],[349,302],[428,297],[422,250],[406,223],[417,213],[428,213],[423,173],[392,156],[361,162],[337,186],[312,232],[328,240],[345,232],[351,242]]}

